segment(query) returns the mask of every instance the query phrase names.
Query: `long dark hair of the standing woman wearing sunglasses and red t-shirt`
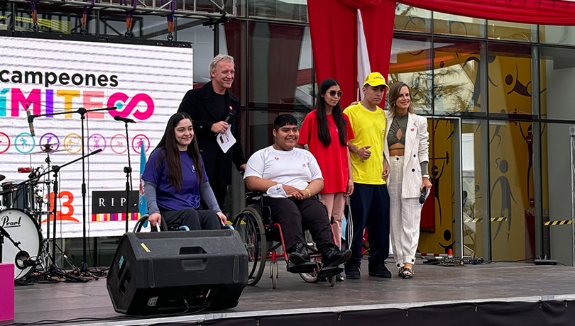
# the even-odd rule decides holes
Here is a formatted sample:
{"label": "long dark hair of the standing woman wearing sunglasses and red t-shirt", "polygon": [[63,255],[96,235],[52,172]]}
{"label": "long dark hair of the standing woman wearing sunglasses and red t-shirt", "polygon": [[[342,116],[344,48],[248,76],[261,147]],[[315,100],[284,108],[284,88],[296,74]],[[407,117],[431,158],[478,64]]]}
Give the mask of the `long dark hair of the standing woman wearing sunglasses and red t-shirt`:
{"label": "long dark hair of the standing woman wearing sunglasses and red t-shirt", "polygon": [[[324,79],[322,84],[319,84],[319,95],[325,96],[327,90],[335,85],[339,86],[339,83],[335,79]],[[329,128],[327,128],[325,98],[323,96],[317,96],[317,101],[315,102],[315,115],[317,116],[317,137],[319,137],[319,140],[323,142],[325,147],[328,147],[332,142],[332,136],[329,135]],[[344,121],[344,116],[341,114],[341,106],[339,105],[340,102],[341,101],[338,101],[336,106],[334,106],[332,109],[332,116],[334,117],[337,132],[339,133],[339,143],[342,146],[346,146],[346,123]]]}

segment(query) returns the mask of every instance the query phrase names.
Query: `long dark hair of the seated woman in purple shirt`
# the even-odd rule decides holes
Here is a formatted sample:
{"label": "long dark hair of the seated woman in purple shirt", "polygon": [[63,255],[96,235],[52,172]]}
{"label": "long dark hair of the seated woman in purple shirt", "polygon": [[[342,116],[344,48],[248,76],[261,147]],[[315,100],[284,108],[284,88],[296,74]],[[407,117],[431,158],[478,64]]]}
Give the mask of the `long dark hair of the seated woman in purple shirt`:
{"label": "long dark hair of the seated woman in purple shirt", "polygon": [[[180,163],[180,150],[177,148],[177,141],[175,139],[175,128],[177,123],[184,119],[190,120],[193,124],[192,118],[190,118],[190,115],[187,113],[180,112],[172,115],[165,126],[162,139],[153,150],[153,152],[160,150],[156,164],[160,164],[163,159],[166,160],[168,179],[177,191],[182,189],[182,164]],[[204,182],[204,174],[202,170],[202,160],[199,159],[199,147],[197,145],[196,135],[194,135],[190,145],[187,145],[186,152],[188,156],[192,158],[197,179],[199,183],[202,184]]]}

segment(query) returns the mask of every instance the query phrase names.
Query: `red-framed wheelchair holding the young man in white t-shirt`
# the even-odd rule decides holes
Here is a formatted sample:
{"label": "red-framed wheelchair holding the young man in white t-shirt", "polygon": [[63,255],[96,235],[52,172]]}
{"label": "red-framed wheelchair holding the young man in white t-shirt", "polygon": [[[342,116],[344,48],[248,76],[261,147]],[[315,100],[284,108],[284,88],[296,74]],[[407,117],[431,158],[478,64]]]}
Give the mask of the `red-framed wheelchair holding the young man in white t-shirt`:
{"label": "red-framed wheelchair holding the young man in white t-shirt", "polygon": [[[277,288],[279,273],[278,259],[283,258],[288,266],[291,264],[285,250],[280,223],[273,221],[270,208],[263,205],[261,193],[246,193],[246,204],[246,208],[243,208],[234,217],[232,225],[239,232],[243,245],[248,252],[248,285],[255,286],[260,281],[265,269],[265,262],[267,259],[271,259],[270,278],[272,288],[275,289]],[[306,240],[308,238],[310,237],[306,236]],[[268,244],[271,244],[269,249]],[[278,254],[276,250],[280,247],[282,253]],[[301,270],[295,271],[295,273],[300,274],[300,277],[307,283],[317,283],[322,278],[319,275],[322,271],[322,254],[310,242],[307,243],[306,247],[310,252],[311,263],[303,266],[298,265],[301,266]],[[341,269],[341,271],[343,270]],[[336,276],[337,274],[325,276],[330,286],[335,286]]]}

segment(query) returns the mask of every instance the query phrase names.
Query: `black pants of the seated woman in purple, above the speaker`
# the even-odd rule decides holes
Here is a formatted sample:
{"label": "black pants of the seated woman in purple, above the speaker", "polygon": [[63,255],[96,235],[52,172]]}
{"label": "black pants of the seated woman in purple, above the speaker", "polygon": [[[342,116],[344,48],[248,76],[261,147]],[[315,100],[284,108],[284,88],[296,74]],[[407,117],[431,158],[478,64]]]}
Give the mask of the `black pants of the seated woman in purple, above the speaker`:
{"label": "black pants of the seated woman in purple, above the speaker", "polygon": [[219,230],[221,228],[221,221],[214,210],[187,208],[165,210],[161,214],[165,223],[168,224],[168,230],[182,225],[186,225],[190,230]]}

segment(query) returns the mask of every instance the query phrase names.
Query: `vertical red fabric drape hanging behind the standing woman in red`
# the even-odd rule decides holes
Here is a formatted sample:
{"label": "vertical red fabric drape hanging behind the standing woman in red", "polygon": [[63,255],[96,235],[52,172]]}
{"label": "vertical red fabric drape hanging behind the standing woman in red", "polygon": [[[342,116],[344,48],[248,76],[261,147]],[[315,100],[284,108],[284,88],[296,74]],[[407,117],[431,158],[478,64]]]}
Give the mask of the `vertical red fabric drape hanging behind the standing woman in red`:
{"label": "vertical red fabric drape hanging behind the standing woman in red", "polygon": [[317,83],[326,78],[336,79],[344,91],[341,98],[344,107],[357,99],[358,9],[366,33],[371,71],[387,76],[395,1],[307,1]]}

